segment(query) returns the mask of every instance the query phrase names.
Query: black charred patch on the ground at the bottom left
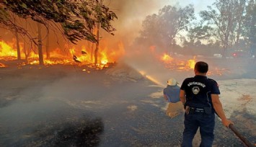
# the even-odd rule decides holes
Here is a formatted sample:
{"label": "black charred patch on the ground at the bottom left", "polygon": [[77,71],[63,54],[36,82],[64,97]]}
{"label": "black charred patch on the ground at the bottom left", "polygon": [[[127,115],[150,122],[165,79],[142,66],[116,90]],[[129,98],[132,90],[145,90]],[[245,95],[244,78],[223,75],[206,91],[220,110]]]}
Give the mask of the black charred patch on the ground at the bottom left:
{"label": "black charred patch on the ground at the bottom left", "polygon": [[61,128],[54,131],[54,138],[48,143],[54,146],[97,146],[103,131],[104,124],[100,118],[83,119],[62,125]]}

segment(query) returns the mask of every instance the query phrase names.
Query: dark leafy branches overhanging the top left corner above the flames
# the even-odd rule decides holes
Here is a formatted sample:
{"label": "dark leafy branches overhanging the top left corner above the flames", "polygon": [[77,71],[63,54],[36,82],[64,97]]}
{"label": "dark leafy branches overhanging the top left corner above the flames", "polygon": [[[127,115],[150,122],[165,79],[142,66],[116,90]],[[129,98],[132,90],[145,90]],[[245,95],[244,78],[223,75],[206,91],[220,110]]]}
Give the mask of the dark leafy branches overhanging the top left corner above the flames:
{"label": "dark leafy branches overhanging the top left corner above the flames", "polygon": [[115,29],[110,22],[117,19],[114,12],[107,6],[98,4],[97,0],[2,0],[0,1],[1,24],[8,26],[12,23],[9,12],[45,25],[48,21],[61,24],[61,31],[71,43],[78,40],[97,42],[92,33],[96,24],[100,23],[102,29],[112,34]]}

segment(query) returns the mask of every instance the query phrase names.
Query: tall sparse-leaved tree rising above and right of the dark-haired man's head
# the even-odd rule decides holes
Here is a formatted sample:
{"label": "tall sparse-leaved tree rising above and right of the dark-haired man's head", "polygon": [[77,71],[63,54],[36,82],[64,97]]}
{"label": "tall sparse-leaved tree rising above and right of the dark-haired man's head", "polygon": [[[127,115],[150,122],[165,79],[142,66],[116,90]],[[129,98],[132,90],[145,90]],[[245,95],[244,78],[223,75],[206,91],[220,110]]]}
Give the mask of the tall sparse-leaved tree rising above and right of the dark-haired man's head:
{"label": "tall sparse-leaved tree rising above and right of the dark-haired man's head", "polygon": [[239,43],[246,0],[216,0],[213,7],[201,11],[200,17],[214,28],[213,35],[220,41],[226,53],[227,48]]}

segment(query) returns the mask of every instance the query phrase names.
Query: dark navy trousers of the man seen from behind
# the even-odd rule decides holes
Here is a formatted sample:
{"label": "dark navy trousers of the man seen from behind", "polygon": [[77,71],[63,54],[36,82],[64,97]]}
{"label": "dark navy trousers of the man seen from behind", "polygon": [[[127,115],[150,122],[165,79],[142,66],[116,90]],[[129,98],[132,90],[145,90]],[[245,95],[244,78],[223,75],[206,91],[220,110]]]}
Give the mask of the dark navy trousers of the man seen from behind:
{"label": "dark navy trousers of the man seen from behind", "polygon": [[201,147],[212,146],[214,140],[215,114],[206,115],[203,112],[185,114],[185,129],[183,131],[182,147],[192,146],[193,138],[200,128]]}

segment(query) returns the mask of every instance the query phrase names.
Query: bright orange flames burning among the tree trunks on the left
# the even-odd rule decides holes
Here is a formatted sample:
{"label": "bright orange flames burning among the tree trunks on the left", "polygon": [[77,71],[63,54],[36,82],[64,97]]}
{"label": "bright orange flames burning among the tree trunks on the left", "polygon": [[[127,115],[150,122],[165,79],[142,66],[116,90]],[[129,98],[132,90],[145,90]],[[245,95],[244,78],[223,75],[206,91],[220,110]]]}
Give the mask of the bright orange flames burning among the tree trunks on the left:
{"label": "bright orange flames burning among the tree trunks on the left", "polygon": [[[17,50],[14,49],[15,43],[6,43],[4,40],[0,41],[0,60],[4,61],[12,61],[17,59]],[[22,43],[21,47],[21,58],[25,59],[25,51],[23,50]],[[68,48],[68,45],[66,45]],[[68,50],[68,51],[67,51]],[[123,43],[119,43],[118,48],[110,50],[107,47],[100,46],[98,51],[98,65],[97,68],[107,67],[109,63],[115,63],[118,61],[121,55],[125,53],[123,48]],[[81,48],[77,48],[75,46],[69,47],[69,49],[61,50],[60,48],[56,48],[50,51],[50,58],[46,58],[46,53],[44,56],[45,65],[56,65],[63,64],[69,65],[76,63],[79,66],[84,65],[94,65],[94,49],[86,48],[85,45]],[[27,63],[25,64],[39,64],[38,54],[35,50],[32,50],[28,57]],[[0,67],[5,67],[4,64],[0,64]]]}

